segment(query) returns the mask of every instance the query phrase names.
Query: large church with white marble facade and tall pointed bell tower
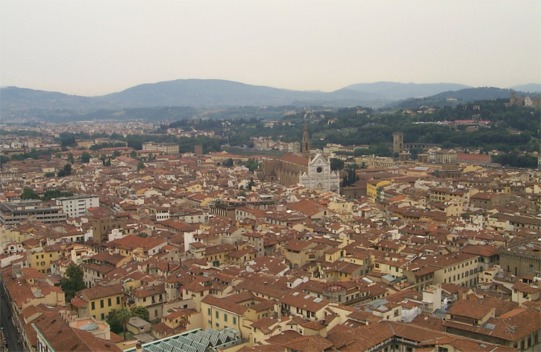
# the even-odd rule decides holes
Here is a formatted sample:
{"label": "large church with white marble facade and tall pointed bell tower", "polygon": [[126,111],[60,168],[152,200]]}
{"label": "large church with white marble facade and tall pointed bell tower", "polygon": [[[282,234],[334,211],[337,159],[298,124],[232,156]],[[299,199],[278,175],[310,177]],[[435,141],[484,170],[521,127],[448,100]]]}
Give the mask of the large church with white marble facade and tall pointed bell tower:
{"label": "large church with white marble facade and tall pointed bell tower", "polygon": [[310,154],[308,126],[304,124],[301,154],[285,154],[263,161],[263,179],[284,186],[301,184],[310,189],[340,192],[340,176],[322,154]]}

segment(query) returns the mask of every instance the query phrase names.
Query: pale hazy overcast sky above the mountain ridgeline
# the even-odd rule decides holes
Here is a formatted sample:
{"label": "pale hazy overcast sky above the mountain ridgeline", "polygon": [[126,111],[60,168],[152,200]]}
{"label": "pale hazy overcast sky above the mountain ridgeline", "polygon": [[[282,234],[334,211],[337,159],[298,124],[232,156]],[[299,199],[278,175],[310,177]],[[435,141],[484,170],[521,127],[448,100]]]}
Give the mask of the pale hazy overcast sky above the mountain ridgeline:
{"label": "pale hazy overcast sky above the mountain ridgeline", "polygon": [[0,0],[0,86],[541,82],[541,1]]}

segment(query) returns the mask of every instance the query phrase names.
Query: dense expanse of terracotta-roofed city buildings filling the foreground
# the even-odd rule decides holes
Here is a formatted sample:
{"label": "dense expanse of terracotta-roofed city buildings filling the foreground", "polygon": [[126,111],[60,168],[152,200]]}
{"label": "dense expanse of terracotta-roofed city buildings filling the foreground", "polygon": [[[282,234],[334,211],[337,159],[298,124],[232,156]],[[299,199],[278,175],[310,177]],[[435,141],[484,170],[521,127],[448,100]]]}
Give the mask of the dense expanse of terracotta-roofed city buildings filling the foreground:
{"label": "dense expanse of terracotta-roofed city buildings filling the foreground", "polygon": [[[61,178],[44,174],[62,159],[3,165],[2,282],[26,348],[157,350],[194,329],[243,352],[541,346],[539,171],[396,162],[337,194],[222,166],[242,156],[129,155]],[[70,265],[86,288],[66,300]],[[105,320],[134,306],[149,321],[124,340]]]}

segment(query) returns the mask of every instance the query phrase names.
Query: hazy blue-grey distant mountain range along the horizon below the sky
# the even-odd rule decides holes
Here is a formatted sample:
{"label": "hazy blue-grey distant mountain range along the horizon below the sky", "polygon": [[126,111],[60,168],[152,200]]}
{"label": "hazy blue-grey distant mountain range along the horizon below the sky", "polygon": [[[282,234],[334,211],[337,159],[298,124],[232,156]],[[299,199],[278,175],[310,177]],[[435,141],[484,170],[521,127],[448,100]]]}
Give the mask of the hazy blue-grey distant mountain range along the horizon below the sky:
{"label": "hazy blue-grey distant mountain range along the horizon below the sky", "polygon": [[[541,84],[513,87],[526,92],[541,91]],[[488,90],[487,90],[488,89]],[[482,92],[482,93],[481,93]],[[45,115],[85,115],[99,110],[124,110],[149,107],[213,108],[232,106],[398,106],[399,100],[497,99],[510,90],[472,88],[453,83],[376,82],[353,84],[334,92],[295,91],[254,86],[225,80],[180,79],[142,84],[121,92],[82,97],[26,88],[0,89],[0,117],[10,120]],[[440,97],[438,95],[443,94]],[[430,98],[427,98],[430,97]],[[411,99],[414,99],[413,101]]]}

